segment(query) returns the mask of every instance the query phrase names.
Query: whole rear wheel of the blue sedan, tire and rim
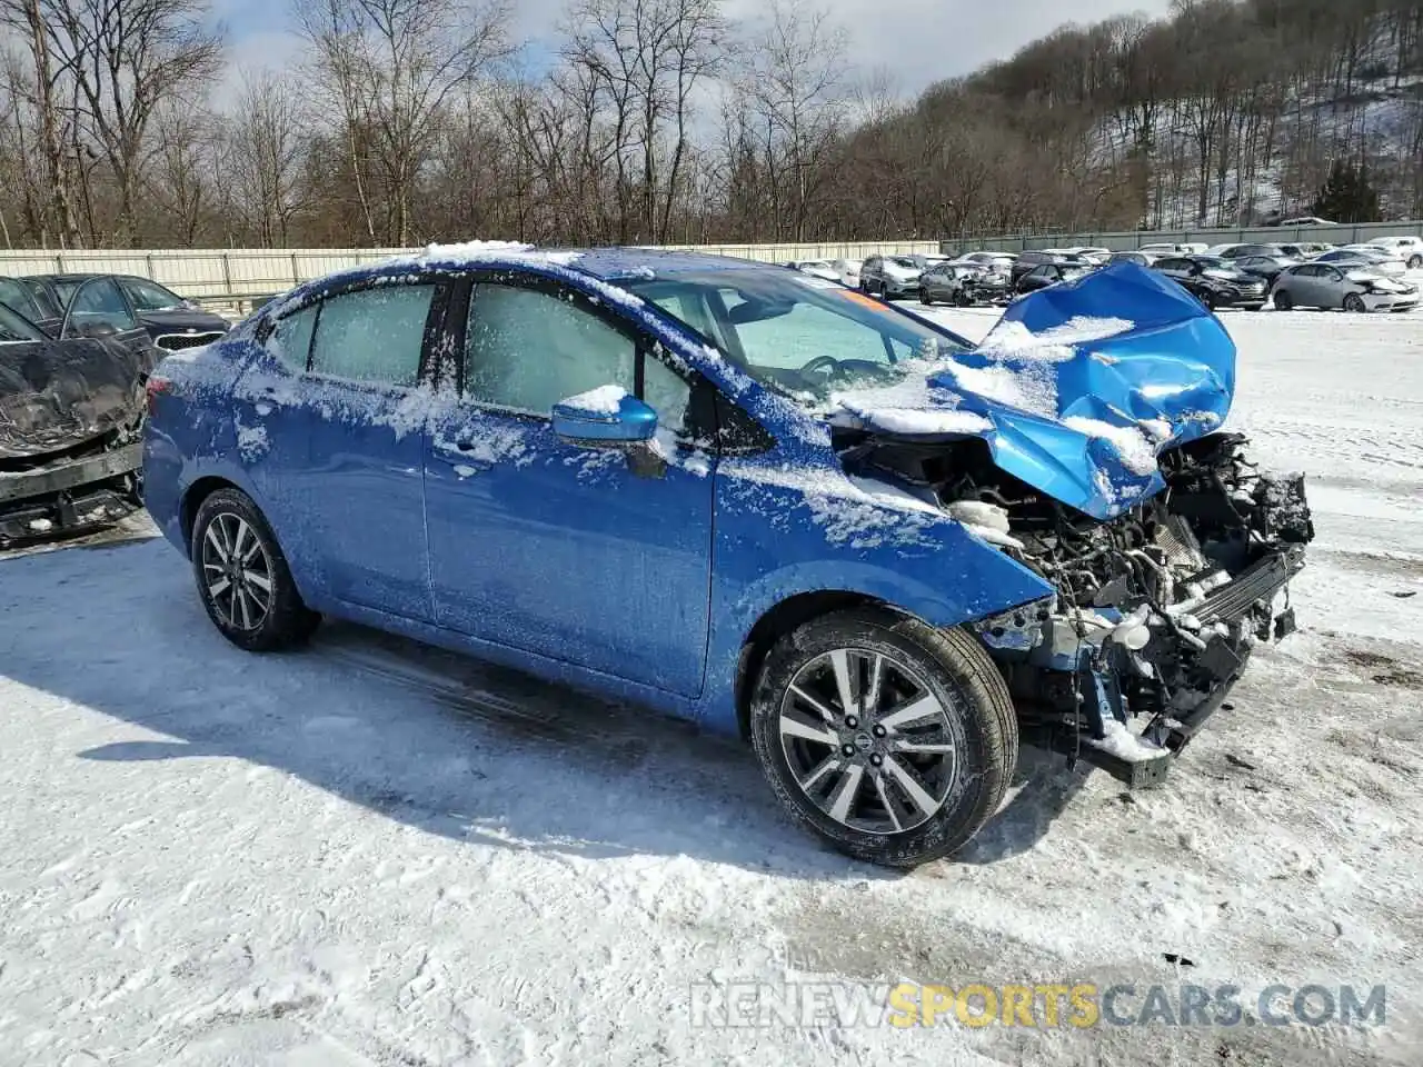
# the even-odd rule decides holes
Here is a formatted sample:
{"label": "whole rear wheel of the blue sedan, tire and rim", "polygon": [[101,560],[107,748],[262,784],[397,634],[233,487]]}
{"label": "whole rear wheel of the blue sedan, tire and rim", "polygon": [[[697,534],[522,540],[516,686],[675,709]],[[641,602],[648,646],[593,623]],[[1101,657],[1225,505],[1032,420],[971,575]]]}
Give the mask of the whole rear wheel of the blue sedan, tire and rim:
{"label": "whole rear wheel of the blue sedan, tire and rim", "polygon": [[272,528],[245,492],[218,489],[202,502],[191,556],[208,617],[239,649],[302,644],[320,622],[302,602]]}

